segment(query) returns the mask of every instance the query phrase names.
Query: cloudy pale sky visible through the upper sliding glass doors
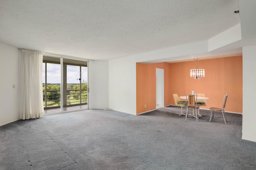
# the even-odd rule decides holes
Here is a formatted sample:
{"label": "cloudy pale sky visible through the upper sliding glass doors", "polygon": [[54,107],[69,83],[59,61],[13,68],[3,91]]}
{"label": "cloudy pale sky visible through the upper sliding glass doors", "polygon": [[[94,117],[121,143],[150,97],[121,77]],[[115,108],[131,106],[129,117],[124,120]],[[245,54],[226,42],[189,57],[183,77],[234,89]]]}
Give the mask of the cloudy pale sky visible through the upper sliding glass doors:
{"label": "cloudy pale sky visible through the upper sliding glass doors", "polygon": [[[45,83],[45,63],[43,63],[42,83]],[[67,65],[67,84],[79,83],[80,66]],[[47,83],[60,83],[60,64],[47,63]],[[81,80],[87,81],[87,67],[82,66]]]}

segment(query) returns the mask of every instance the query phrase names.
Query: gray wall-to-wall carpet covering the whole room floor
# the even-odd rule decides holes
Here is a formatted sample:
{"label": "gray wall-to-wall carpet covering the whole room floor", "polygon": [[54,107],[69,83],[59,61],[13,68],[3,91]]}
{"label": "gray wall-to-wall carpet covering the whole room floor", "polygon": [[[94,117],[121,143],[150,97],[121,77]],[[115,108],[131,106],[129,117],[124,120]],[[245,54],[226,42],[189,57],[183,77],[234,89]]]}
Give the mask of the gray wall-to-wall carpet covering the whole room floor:
{"label": "gray wall-to-wall carpet covering the whole room floor", "polygon": [[[186,109],[184,109],[185,111]],[[241,139],[242,115],[180,107],[142,115],[76,111],[0,127],[1,170],[255,170],[256,143]]]}

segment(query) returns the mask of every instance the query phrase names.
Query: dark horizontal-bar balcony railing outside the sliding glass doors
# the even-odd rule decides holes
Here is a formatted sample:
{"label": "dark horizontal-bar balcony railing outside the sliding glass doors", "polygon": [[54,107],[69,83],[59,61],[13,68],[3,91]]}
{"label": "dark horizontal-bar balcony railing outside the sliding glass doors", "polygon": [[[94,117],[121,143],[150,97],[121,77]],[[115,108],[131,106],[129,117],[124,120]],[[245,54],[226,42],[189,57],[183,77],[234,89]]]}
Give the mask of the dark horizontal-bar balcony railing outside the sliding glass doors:
{"label": "dark horizontal-bar balcony railing outside the sliding glass doors", "polygon": [[[74,104],[87,104],[87,89],[80,90],[67,90],[66,101],[64,103],[68,105]],[[64,99],[65,100],[65,99]],[[57,107],[60,106],[60,90],[47,90],[46,94],[43,91],[44,107]]]}

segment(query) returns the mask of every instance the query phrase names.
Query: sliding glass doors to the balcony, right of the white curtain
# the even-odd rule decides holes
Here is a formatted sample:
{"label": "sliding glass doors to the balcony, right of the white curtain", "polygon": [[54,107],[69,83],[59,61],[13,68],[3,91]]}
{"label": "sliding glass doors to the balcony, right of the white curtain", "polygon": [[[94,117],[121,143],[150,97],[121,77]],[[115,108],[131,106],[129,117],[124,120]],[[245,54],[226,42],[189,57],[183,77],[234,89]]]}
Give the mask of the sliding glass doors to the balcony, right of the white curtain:
{"label": "sliding glass doors to the balcony, right of the white curtain", "polygon": [[61,76],[60,58],[44,56],[42,77],[44,109],[49,113],[61,112],[61,106],[63,106],[62,111],[88,109],[87,62],[63,59],[63,92],[61,92]]}

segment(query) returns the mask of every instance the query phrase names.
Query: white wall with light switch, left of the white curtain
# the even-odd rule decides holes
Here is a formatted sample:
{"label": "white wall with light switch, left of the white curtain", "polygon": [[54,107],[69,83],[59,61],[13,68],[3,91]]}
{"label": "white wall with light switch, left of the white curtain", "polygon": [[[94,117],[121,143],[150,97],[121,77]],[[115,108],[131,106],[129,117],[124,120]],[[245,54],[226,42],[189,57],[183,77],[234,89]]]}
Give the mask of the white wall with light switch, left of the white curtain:
{"label": "white wall with light switch, left of the white curtain", "polygon": [[[0,43],[0,126],[19,119],[19,49]],[[12,85],[15,88],[12,88]]]}

